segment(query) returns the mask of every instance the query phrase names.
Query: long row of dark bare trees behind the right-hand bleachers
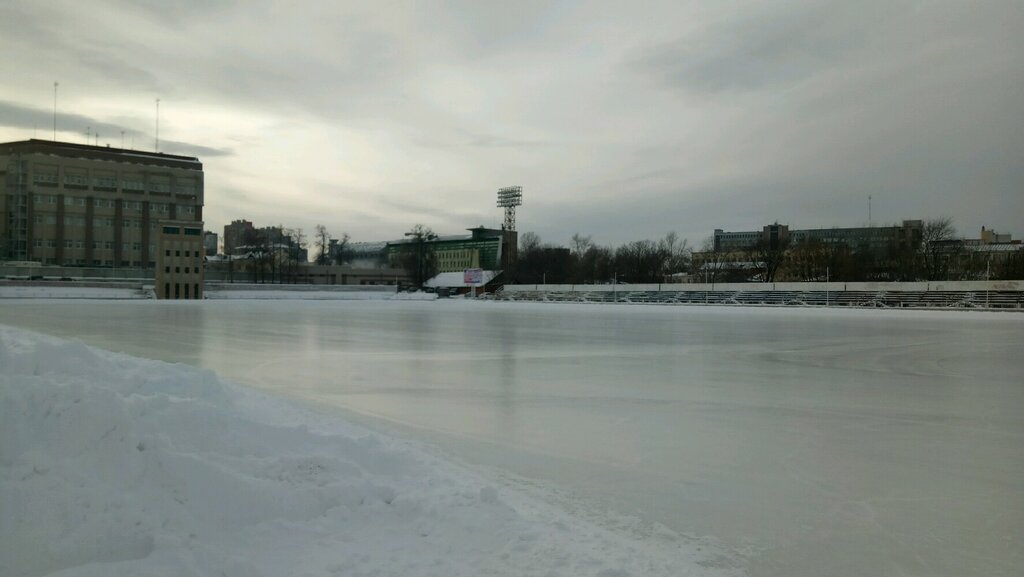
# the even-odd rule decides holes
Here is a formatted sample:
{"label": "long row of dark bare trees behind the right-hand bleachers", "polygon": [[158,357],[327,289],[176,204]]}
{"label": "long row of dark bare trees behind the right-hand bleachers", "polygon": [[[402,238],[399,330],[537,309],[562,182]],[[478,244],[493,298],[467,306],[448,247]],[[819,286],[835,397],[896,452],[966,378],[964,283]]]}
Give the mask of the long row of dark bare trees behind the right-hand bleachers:
{"label": "long row of dark bare trees behind the right-hand bleachers", "polygon": [[[984,248],[985,245],[981,245]],[[926,220],[912,243],[849,246],[808,239],[759,242],[741,250],[717,251],[714,237],[692,250],[669,233],[656,241],[598,246],[573,235],[570,246],[543,243],[536,234],[519,239],[511,278],[521,284],[909,282],[1024,279],[1024,251],[979,250],[956,238],[949,218]]]}

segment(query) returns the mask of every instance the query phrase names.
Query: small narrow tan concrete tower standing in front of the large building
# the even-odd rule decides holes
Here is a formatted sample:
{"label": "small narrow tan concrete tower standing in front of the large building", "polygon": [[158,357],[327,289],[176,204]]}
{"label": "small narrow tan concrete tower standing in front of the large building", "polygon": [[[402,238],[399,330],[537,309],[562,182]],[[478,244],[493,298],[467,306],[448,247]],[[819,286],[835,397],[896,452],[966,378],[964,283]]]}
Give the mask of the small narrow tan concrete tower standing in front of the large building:
{"label": "small narrow tan concrete tower standing in front of the large building", "polygon": [[161,221],[154,283],[157,298],[203,298],[204,252],[202,222]]}

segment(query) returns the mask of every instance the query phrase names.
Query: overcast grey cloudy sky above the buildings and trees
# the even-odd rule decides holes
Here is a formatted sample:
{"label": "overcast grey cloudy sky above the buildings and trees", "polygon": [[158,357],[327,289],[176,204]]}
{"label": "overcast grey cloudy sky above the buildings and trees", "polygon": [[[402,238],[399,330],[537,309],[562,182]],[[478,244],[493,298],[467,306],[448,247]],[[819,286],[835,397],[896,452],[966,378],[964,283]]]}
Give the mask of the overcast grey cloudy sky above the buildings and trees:
{"label": "overcast grey cloudy sky above the buildings and trees", "polygon": [[1024,236],[1024,2],[4,0],[0,140],[199,156],[207,228]]}

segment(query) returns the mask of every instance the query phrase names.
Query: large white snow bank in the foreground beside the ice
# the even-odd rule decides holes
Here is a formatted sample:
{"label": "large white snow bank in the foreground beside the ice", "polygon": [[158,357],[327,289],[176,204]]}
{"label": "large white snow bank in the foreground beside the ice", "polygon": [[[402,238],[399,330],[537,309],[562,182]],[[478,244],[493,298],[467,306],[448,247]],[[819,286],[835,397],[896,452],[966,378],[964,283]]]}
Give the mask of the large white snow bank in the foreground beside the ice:
{"label": "large white snow bank in the foreground beside the ice", "polygon": [[7,577],[735,573],[208,371],[4,327],[0,369]]}

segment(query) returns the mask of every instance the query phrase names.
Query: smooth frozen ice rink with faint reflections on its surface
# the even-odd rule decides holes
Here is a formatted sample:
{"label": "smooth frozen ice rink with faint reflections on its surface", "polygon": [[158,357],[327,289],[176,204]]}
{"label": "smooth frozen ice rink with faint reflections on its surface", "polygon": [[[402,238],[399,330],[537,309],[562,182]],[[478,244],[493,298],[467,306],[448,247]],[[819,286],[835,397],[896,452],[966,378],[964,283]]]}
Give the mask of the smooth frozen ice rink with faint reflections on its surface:
{"label": "smooth frozen ice rink with faint reflections on its surface", "polygon": [[1024,315],[0,301],[711,536],[753,576],[1024,567]]}

